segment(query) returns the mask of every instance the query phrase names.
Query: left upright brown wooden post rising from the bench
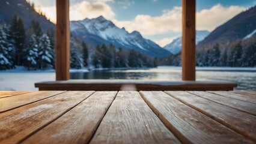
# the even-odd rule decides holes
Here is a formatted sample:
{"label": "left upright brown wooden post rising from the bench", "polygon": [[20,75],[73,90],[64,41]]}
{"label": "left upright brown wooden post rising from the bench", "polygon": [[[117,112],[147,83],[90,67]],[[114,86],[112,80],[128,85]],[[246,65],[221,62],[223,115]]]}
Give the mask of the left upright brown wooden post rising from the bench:
{"label": "left upright brown wooden post rising from the bench", "polygon": [[56,0],[56,80],[69,80],[69,0]]}

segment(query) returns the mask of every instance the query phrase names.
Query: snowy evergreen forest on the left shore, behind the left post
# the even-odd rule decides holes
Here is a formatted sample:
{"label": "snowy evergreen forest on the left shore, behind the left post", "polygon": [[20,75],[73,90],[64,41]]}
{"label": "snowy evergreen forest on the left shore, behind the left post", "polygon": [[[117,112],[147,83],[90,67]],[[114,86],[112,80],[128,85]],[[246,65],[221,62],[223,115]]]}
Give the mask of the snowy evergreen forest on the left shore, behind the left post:
{"label": "snowy evergreen forest on the left shore, behind the left post", "polygon": [[[88,48],[89,47],[89,48]],[[32,20],[25,29],[23,20],[14,16],[10,25],[0,26],[0,70],[24,66],[27,70],[55,67],[55,31],[43,32],[40,23]],[[135,50],[116,49],[110,44],[96,48],[71,35],[70,68],[138,68],[155,67],[153,58]]]}

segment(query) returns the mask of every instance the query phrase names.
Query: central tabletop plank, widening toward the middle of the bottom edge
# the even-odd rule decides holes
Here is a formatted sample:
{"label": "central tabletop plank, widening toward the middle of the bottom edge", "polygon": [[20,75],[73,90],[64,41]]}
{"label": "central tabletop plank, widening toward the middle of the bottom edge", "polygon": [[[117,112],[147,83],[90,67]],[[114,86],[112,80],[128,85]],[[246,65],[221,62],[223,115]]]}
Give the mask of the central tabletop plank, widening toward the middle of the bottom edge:
{"label": "central tabletop plank, widening toward the middle of the bottom edge", "polygon": [[135,91],[120,91],[90,143],[180,143]]}

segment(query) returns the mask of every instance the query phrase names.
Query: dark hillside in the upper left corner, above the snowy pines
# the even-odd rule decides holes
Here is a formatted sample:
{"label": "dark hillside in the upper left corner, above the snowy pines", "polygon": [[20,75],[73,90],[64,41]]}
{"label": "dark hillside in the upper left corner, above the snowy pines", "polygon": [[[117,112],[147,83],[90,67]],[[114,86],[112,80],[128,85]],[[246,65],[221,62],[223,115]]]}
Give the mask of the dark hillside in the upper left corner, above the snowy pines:
{"label": "dark hillside in the upper left corner, above the snowy pines", "polygon": [[0,1],[0,24],[10,24],[15,14],[23,20],[26,29],[29,28],[32,20],[39,22],[43,31],[55,28],[52,22],[38,14],[26,0]]}

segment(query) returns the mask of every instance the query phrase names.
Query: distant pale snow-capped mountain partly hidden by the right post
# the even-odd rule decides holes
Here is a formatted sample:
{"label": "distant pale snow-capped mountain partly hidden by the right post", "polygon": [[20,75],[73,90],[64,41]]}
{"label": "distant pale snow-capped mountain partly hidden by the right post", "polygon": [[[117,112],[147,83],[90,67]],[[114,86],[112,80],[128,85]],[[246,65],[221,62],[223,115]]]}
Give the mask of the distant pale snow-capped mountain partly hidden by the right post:
{"label": "distant pale snow-capped mountain partly hidden by the right post", "polygon": [[[198,44],[200,41],[204,40],[204,38],[209,35],[209,31],[196,31],[196,44]],[[177,54],[181,52],[181,43],[182,43],[182,37],[178,37],[175,40],[173,40],[170,44],[167,44],[163,49],[169,50],[169,52],[173,54]]]}

